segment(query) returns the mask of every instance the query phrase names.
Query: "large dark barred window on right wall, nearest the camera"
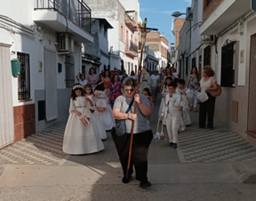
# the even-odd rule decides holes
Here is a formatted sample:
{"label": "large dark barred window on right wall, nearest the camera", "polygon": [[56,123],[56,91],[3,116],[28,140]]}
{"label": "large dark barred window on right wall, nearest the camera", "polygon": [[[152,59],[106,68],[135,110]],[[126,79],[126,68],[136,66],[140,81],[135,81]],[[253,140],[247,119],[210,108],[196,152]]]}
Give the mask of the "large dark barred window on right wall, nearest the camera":
{"label": "large dark barred window on right wall, nearest the camera", "polygon": [[233,87],[235,83],[234,62],[234,44],[231,42],[221,48],[221,77],[222,87]]}

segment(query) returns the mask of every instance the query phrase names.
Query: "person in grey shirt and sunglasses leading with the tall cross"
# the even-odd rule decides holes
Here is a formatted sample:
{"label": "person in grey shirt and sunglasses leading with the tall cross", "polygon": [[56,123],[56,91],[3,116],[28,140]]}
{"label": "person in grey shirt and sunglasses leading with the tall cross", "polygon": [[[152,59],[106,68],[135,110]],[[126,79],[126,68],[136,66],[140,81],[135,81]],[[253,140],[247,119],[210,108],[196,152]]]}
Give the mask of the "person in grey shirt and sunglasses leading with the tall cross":
{"label": "person in grey shirt and sunglasses leading with the tall cross", "polygon": [[[130,182],[133,170],[135,167],[136,180],[140,181],[140,187],[148,187],[151,185],[148,182],[148,147],[153,138],[153,133],[149,127],[148,116],[151,113],[151,108],[147,97],[142,94],[135,94],[135,81],[132,78],[125,78],[124,95],[117,97],[114,107],[113,116],[116,120],[124,120],[125,131],[120,135],[118,127],[112,129],[112,137],[116,144],[116,150],[123,168],[124,177],[122,182]],[[138,109],[136,114],[133,114],[134,102],[137,102]],[[128,109],[128,111],[127,111]],[[131,139],[132,120],[135,120],[131,166],[129,168],[129,177],[126,178],[126,168],[128,164],[129,145]],[[117,135],[118,134],[118,135]]]}

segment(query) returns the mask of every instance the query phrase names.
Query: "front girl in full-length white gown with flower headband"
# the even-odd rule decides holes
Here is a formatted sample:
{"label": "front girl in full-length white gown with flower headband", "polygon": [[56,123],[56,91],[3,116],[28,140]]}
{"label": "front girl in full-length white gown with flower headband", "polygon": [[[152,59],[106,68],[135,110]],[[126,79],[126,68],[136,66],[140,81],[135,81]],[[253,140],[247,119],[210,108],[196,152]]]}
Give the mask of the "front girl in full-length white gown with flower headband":
{"label": "front girl in full-length white gown with flower headband", "polygon": [[63,152],[74,155],[104,150],[100,135],[94,132],[91,112],[86,108],[84,89],[80,84],[72,89],[69,117],[63,139]]}

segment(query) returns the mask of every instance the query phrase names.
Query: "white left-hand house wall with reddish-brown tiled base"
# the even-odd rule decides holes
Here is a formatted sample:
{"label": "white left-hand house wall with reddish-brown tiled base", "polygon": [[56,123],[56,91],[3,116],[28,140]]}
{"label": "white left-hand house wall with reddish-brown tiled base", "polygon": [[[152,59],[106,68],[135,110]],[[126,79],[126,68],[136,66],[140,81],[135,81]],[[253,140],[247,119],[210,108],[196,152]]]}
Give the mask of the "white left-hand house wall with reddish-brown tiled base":
{"label": "white left-hand house wall with reddish-brown tiled base", "polygon": [[[4,23],[0,27],[0,43],[11,45],[11,59],[17,58],[17,52],[29,54],[29,81],[30,98],[20,101],[18,98],[18,78],[12,76],[12,105],[14,118],[15,141],[31,135],[52,124],[45,120],[38,120],[38,101],[45,100],[44,97],[44,49],[58,53],[57,33],[47,27],[38,27],[33,21],[33,11],[35,1],[24,0],[1,2],[1,18],[6,16],[10,22]],[[12,12],[10,12],[12,11]],[[21,24],[21,25],[20,25]],[[12,31],[11,31],[12,30]],[[74,71],[79,72],[81,66],[81,45],[76,43],[74,47]],[[61,120],[68,115],[70,89],[66,87],[65,56],[57,55],[57,107],[58,114],[56,120]],[[58,63],[62,65],[61,72],[58,72]],[[75,77],[74,77],[75,80]]]}

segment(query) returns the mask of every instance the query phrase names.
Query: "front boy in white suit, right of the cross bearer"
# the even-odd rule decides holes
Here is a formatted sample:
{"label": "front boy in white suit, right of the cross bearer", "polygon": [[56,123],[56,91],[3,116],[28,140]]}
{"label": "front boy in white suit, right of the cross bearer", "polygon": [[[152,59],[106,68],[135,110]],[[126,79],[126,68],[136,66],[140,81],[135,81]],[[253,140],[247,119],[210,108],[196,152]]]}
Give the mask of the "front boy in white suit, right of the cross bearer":
{"label": "front boy in white suit, right of the cross bearer", "polygon": [[177,148],[178,128],[180,126],[180,94],[176,92],[177,84],[168,85],[169,94],[165,96],[161,117],[166,118],[166,128],[172,149]]}

